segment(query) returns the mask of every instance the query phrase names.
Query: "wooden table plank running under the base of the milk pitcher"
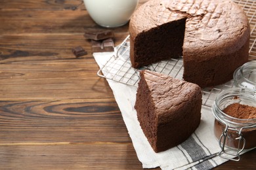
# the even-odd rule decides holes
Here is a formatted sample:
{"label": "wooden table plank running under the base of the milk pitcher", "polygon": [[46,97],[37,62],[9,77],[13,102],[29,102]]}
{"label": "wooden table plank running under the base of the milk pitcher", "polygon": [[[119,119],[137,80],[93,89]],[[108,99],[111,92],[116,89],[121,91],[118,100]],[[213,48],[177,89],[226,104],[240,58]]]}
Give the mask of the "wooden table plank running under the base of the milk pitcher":
{"label": "wooden table plank running under the base of the milk pitcher", "polygon": [[[97,25],[87,10],[0,10],[2,35],[57,33],[80,34],[86,29],[106,29]],[[58,19],[55,19],[58,18]],[[129,24],[115,29],[115,33],[127,31]]]}

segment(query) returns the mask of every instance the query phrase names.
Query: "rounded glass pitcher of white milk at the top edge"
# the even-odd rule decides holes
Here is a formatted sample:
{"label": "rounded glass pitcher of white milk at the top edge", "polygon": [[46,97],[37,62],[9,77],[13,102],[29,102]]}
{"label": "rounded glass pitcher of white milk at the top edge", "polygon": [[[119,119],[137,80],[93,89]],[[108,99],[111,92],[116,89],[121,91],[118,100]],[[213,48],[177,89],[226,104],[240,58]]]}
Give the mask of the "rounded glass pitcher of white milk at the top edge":
{"label": "rounded glass pitcher of white milk at the top edge", "polygon": [[83,0],[85,8],[96,24],[119,27],[129,20],[139,0]]}

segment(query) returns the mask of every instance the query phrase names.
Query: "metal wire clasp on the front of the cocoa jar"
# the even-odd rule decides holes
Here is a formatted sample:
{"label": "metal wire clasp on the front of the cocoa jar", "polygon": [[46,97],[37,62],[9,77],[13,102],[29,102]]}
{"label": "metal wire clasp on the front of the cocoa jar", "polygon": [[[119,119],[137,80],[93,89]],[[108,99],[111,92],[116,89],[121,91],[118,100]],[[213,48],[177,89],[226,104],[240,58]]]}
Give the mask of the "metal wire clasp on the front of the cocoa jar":
{"label": "metal wire clasp on the front of the cocoa jar", "polygon": [[[226,124],[226,127],[219,139],[219,146],[221,147],[221,151],[219,152],[219,156],[221,158],[224,158],[224,159],[227,159],[227,160],[233,160],[233,161],[239,161],[240,160],[240,153],[244,150],[244,146],[245,146],[245,139],[244,137],[242,136],[242,129],[244,128],[247,128],[247,127],[242,127],[239,131],[236,130],[236,129],[232,129],[230,127],[228,127],[228,125]],[[227,134],[228,134],[228,130],[235,130],[235,131],[238,131],[238,137],[236,138],[236,140],[239,140],[238,141],[238,148],[236,150],[236,152],[232,152],[232,150],[225,150],[225,143],[226,143],[226,137],[227,137]],[[223,144],[221,143],[223,139]],[[240,148],[240,145],[241,145],[241,142],[243,143],[243,146],[242,148]],[[226,154],[226,156],[224,156],[223,154]],[[230,157],[231,156],[231,157]],[[235,156],[235,158],[233,158]],[[237,157],[237,158],[236,158]]]}

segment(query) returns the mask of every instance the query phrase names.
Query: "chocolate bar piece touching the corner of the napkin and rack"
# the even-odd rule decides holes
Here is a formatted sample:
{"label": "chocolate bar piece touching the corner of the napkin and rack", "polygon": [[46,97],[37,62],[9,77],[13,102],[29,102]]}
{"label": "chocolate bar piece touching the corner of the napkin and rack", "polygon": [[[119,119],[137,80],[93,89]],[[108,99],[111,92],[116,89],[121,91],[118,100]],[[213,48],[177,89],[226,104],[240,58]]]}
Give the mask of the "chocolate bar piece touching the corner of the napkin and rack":
{"label": "chocolate bar piece touching the corner of the napkin and rack", "polygon": [[103,41],[92,40],[91,44],[93,52],[114,52],[114,41],[112,38]]}

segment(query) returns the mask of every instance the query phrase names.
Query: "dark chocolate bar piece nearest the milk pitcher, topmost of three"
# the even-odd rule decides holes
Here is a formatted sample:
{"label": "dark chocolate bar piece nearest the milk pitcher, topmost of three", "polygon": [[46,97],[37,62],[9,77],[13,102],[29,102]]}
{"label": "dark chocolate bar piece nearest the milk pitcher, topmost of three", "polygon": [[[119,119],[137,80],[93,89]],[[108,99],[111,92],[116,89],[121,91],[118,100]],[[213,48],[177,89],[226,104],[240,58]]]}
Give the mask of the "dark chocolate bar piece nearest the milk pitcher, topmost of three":
{"label": "dark chocolate bar piece nearest the milk pitcher, topmost of three", "polygon": [[104,30],[104,31],[87,31],[83,35],[87,39],[99,41],[99,40],[104,40],[108,38],[113,38],[114,33],[110,30]]}

